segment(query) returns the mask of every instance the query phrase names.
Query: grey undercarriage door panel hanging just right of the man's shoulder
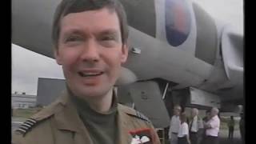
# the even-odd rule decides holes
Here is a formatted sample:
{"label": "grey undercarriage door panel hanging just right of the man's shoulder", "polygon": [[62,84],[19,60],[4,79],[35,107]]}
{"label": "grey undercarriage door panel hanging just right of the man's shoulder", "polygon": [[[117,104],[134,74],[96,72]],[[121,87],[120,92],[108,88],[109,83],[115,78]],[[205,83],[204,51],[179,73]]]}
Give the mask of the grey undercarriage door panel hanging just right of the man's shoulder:
{"label": "grey undercarriage door panel hanging just right of the man's shoulder", "polygon": [[162,101],[162,94],[157,82],[135,82],[119,86],[118,102],[134,106],[136,110],[150,118],[156,128],[169,126],[170,117],[165,103]]}

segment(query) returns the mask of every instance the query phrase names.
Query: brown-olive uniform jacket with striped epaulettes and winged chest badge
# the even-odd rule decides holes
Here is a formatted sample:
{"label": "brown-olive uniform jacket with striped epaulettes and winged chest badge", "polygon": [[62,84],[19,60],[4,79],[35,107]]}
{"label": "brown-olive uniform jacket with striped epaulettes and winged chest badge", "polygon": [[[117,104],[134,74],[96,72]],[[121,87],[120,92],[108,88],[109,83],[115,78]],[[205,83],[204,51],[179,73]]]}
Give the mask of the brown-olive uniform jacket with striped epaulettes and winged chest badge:
{"label": "brown-olive uniform jacket with striped epaulettes and winged chest badge", "polygon": [[[152,123],[138,111],[117,104],[117,144],[160,144]],[[62,94],[15,130],[13,144],[94,144],[70,96]]]}

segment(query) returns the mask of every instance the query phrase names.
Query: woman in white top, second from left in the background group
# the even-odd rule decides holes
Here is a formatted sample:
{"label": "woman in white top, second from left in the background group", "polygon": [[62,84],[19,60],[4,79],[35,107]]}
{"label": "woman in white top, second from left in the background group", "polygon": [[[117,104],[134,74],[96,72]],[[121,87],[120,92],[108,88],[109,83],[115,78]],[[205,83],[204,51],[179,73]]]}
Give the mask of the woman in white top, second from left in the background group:
{"label": "woman in white top, second from left in the background group", "polygon": [[178,129],[178,144],[190,144],[189,126],[186,123],[186,114],[180,115],[181,125]]}

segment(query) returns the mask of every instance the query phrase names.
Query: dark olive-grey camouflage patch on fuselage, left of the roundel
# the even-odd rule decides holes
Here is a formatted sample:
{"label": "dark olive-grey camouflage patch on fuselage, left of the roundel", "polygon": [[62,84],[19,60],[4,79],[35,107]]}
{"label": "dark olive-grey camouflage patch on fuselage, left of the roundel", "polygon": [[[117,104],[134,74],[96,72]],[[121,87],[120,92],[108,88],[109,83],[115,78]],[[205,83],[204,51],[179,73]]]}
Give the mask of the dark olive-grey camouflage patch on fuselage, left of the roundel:
{"label": "dark olive-grey camouflage patch on fuselage, left of the roundel", "polygon": [[154,0],[120,0],[126,10],[129,26],[155,38]]}

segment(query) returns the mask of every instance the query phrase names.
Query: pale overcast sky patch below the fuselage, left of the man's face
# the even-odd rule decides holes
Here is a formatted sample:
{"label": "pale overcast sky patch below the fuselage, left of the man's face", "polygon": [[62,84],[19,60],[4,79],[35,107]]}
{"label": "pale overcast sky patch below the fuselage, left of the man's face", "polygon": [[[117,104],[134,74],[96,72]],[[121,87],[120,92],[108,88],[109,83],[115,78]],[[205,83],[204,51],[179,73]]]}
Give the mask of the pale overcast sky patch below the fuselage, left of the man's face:
{"label": "pale overcast sky patch below the fuselage, left of the man's face", "polygon": [[64,78],[53,58],[12,44],[12,93],[37,94],[38,78]]}

